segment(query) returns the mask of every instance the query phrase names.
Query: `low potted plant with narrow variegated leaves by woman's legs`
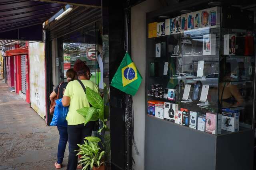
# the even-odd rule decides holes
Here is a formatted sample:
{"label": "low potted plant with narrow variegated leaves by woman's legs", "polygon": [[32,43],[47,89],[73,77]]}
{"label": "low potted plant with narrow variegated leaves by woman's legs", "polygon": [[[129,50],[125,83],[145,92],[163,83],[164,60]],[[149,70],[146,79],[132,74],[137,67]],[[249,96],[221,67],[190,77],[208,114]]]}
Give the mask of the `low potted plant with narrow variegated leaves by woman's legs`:
{"label": "low potted plant with narrow variegated leaves by woman's legs", "polygon": [[[86,137],[84,138],[84,144],[77,144],[79,147],[78,154],[82,155],[81,160],[78,161],[79,166],[84,165],[82,170],[86,170],[89,166],[93,168],[100,167],[104,162],[102,158],[104,156],[104,151],[101,151],[98,143],[101,142],[98,137]],[[103,145],[103,144],[102,144]]]}

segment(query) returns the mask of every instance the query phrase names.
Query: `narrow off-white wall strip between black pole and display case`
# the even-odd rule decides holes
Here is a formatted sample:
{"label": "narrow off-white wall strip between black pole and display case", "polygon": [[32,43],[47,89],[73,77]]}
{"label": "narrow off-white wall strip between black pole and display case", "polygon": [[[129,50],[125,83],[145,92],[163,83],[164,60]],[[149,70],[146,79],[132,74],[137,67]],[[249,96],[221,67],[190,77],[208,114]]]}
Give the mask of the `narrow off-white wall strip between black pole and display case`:
{"label": "narrow off-white wall strip between black pole and display case", "polygon": [[144,140],[145,140],[145,64],[146,64],[146,13],[161,7],[158,0],[146,0],[132,7],[132,60],[143,78],[140,89],[133,97],[134,103],[134,139],[138,148],[137,155],[133,147],[135,160],[134,169],[144,170]]}

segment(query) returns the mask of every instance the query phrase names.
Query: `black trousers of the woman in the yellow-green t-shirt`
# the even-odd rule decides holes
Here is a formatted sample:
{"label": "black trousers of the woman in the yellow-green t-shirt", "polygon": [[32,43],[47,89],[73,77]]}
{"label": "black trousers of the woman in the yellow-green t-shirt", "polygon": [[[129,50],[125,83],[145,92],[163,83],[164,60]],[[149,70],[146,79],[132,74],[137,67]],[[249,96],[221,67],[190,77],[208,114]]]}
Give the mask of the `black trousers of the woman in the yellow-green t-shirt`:
{"label": "black trousers of the woman in the yellow-green t-shirt", "polygon": [[84,123],[79,125],[68,125],[68,143],[69,143],[69,155],[67,170],[76,170],[79,147],[77,144],[84,144],[84,138],[92,135],[92,129],[95,122],[89,121],[86,125]]}

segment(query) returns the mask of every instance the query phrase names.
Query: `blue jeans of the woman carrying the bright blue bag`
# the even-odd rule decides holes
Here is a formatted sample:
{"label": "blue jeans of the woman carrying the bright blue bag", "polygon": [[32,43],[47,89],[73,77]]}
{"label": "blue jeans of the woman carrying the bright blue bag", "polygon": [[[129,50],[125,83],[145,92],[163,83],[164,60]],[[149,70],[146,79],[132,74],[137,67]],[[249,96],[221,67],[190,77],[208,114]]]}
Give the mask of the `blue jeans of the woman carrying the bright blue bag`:
{"label": "blue jeans of the woman carrying the bright blue bag", "polygon": [[57,154],[57,163],[62,164],[64,153],[66,149],[66,145],[68,142],[68,127],[64,126],[57,126],[59,134],[60,134],[60,140],[58,145],[58,154]]}

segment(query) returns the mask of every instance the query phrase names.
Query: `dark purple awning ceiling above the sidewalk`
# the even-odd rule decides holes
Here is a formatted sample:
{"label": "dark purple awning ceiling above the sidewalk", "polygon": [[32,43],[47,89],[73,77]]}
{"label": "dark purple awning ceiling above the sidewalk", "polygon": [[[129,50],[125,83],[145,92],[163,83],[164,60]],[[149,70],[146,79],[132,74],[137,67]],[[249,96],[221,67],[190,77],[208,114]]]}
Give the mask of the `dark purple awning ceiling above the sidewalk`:
{"label": "dark purple awning ceiling above the sidewalk", "polygon": [[0,39],[42,41],[42,23],[66,4],[100,8],[100,0],[0,0]]}

